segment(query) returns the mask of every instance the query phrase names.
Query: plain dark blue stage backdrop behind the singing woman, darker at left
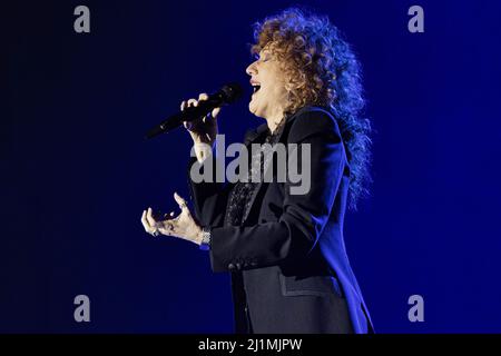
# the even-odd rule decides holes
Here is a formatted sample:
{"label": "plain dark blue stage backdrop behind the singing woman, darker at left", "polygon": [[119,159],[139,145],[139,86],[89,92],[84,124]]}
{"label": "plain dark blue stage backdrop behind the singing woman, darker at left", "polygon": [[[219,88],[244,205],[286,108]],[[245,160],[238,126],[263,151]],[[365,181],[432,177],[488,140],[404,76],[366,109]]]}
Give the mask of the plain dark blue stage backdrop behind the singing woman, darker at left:
{"label": "plain dark blue stage backdrop behind the singing woman, darker at left", "polygon": [[[73,31],[78,4],[89,34]],[[181,99],[247,82],[252,23],[291,4],[2,4],[0,332],[232,332],[228,276],[139,221],[148,206],[175,208],[175,190],[187,196],[189,139],[143,135]],[[374,184],[345,238],[377,332],[501,332],[501,4],[307,4],[364,66]],[[424,33],[407,31],[412,4]],[[227,141],[261,123],[247,102],[222,113]],[[73,320],[79,294],[88,324]],[[407,319],[413,294],[424,323]]]}

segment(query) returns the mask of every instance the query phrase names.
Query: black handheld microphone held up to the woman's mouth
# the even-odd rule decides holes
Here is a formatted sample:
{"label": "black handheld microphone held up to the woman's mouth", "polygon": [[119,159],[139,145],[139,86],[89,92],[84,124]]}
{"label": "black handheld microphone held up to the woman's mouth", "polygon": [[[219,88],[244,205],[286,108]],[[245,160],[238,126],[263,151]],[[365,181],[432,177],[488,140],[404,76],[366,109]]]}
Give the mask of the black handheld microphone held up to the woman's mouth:
{"label": "black handheld microphone held up to the woman's mouth", "polygon": [[146,134],[146,138],[150,139],[164,132],[169,132],[175,128],[183,125],[183,121],[194,121],[196,119],[203,118],[224,105],[232,103],[242,97],[242,87],[236,82],[227,83],[219,91],[209,95],[207,100],[198,101],[197,107],[189,107],[183,111],[179,111],[160,125],[154,127]]}

